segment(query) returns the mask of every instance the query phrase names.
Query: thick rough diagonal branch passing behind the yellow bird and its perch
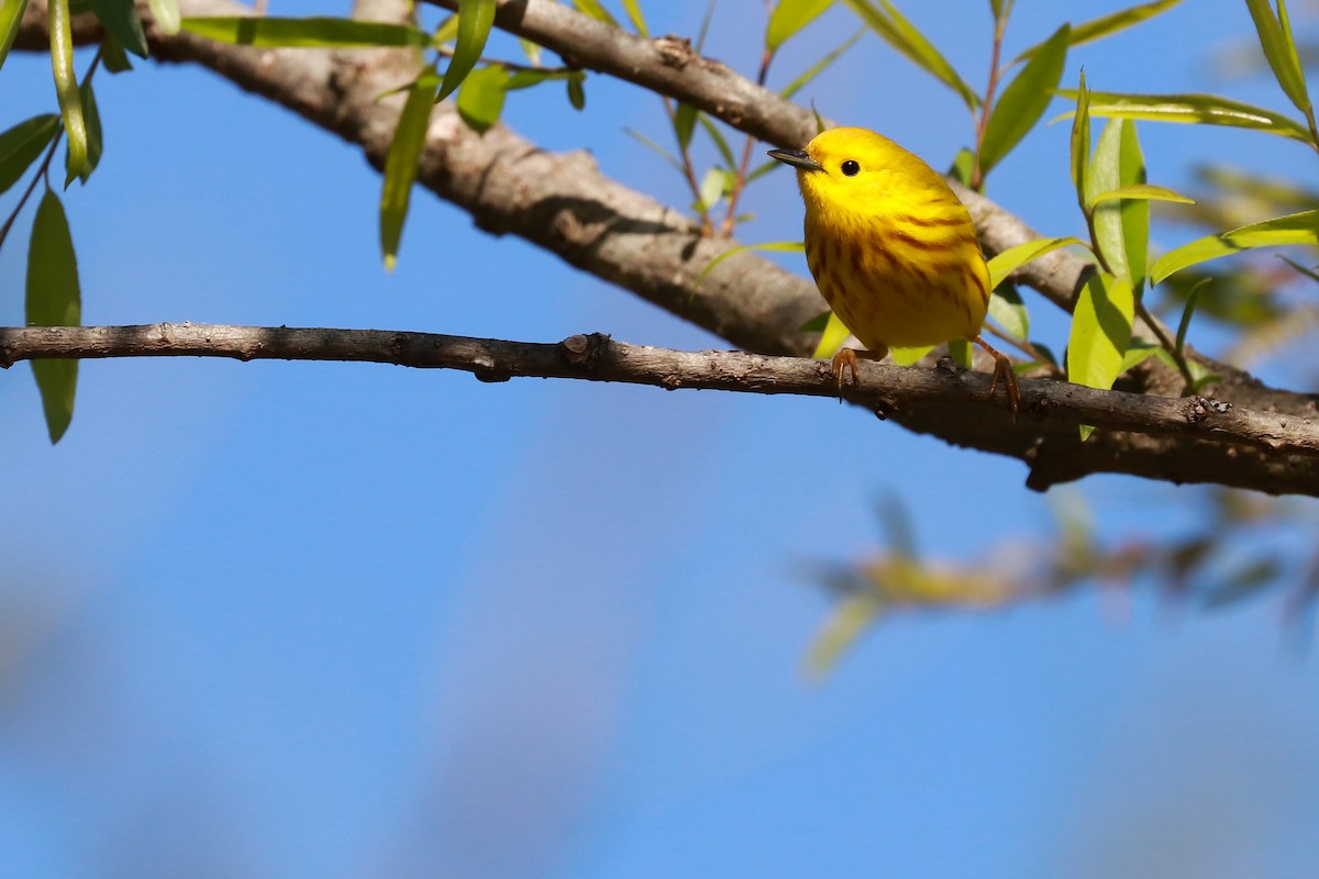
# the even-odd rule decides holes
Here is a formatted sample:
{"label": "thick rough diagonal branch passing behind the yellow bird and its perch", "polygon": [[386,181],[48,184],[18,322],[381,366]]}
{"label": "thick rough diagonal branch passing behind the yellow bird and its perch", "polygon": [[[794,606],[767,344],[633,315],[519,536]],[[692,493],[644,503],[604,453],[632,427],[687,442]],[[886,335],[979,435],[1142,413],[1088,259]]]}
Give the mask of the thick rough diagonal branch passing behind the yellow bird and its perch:
{"label": "thick rough diagonal branch passing behind the yellow bird and its perch", "polygon": [[[181,5],[189,16],[245,12],[244,7],[226,0],[182,0]],[[517,5],[526,11],[539,11],[557,4],[525,0]],[[45,46],[42,12],[41,0],[33,0],[17,45]],[[505,11],[500,14],[509,13]],[[83,28],[79,33],[83,38],[95,37],[95,29]],[[638,40],[613,29],[592,34],[592,40],[605,42]],[[415,75],[415,58],[408,51],[259,50],[212,43],[186,33],[170,38],[154,28],[149,29],[149,40],[157,57],[210,67],[243,88],[264,95],[360,145],[367,159],[376,167],[384,163],[401,104],[398,96],[384,100],[376,98]],[[595,42],[583,42],[578,49],[574,57],[582,61],[587,58],[587,53],[596,51],[598,46]],[[665,88],[679,98],[694,95],[696,90],[687,80],[690,71],[708,72],[720,67],[706,61],[675,65],[671,67],[673,75],[665,79]],[[728,71],[720,76],[736,74]],[[707,83],[706,79],[695,82]],[[756,88],[753,84],[751,87]],[[806,111],[793,108],[769,92],[764,95],[768,96],[765,105],[773,111],[766,111],[765,125],[781,128],[774,129],[778,133],[766,129],[762,136],[769,137],[770,142],[798,145],[799,125],[793,128],[795,123],[791,120]],[[691,103],[716,115],[721,107],[710,104],[707,99],[692,99]],[[723,113],[728,115],[728,111]],[[807,353],[811,348],[813,337],[795,332],[794,328],[823,310],[814,285],[754,256],[743,254],[711,273],[700,290],[692,294],[699,271],[732,242],[700,237],[692,223],[681,213],[600,174],[584,153],[542,152],[504,125],[497,125],[480,137],[462,124],[451,105],[441,104],[431,117],[418,181],[468,211],[481,228],[525,237],[567,262],[632,290],[736,345],[765,353],[795,354]],[[992,229],[997,228],[995,224],[998,221],[991,215],[1008,219],[1000,224],[1005,229],[1001,232],[1004,239],[1000,244],[991,242],[991,248],[1014,244],[1014,236],[1025,240],[1033,235],[1001,208],[983,199],[971,202],[983,235],[993,235]],[[985,219],[987,216],[991,219]],[[1050,268],[1051,262],[1041,261],[1034,269],[1047,274],[1039,278],[1039,286],[1066,298],[1071,295],[1075,274],[1071,274],[1072,266],[1067,262],[1072,258],[1059,258],[1063,262],[1054,268]],[[1221,414],[1210,406],[1207,411],[1212,415],[1208,419],[1212,426],[1225,423],[1220,415],[1231,419],[1236,418],[1233,412],[1253,410],[1285,412],[1289,415],[1285,419],[1289,424],[1307,427],[1306,419],[1315,414],[1314,398],[1310,395],[1264,387],[1228,368],[1223,373],[1229,376],[1229,381],[1220,386],[1219,397],[1235,406]],[[863,373],[867,387],[871,386],[872,374]],[[1136,391],[1151,387],[1158,390],[1149,378],[1128,380],[1126,387]],[[968,377],[964,381],[976,385],[981,378]],[[1170,387],[1165,393],[1175,395],[1177,390]],[[1050,394],[1028,399],[1033,401],[1031,405],[1049,409],[1060,401],[1072,399],[1070,395],[1092,393],[1097,391],[1058,385]],[[1104,394],[1100,393],[1096,399],[1103,398]],[[868,402],[884,409],[888,399]],[[1122,399],[1125,395],[1115,393],[1112,403],[1097,402],[1103,411],[1096,415],[1108,411],[1104,406],[1116,412],[1122,409],[1119,405]],[[1028,411],[1014,424],[1001,407],[968,406],[956,397],[948,398],[943,405],[893,405],[889,415],[913,431],[1021,459],[1031,468],[1029,485],[1038,489],[1088,473],[1120,472],[1174,482],[1219,482],[1274,493],[1312,490],[1310,486],[1315,477],[1310,470],[1315,467],[1314,460],[1306,455],[1279,451],[1298,445],[1290,438],[1279,438],[1274,427],[1239,426],[1240,430],[1228,430],[1228,435],[1223,438],[1225,441],[1212,441],[1206,438],[1213,435],[1213,431],[1182,430],[1188,411],[1184,409],[1186,401],[1150,401],[1149,406],[1146,411],[1150,418],[1167,419],[1162,428],[1150,423],[1126,422],[1112,412],[1105,418],[1072,414],[1037,420]],[[1071,410],[1064,407],[1064,411]],[[1111,426],[1119,432],[1100,431],[1089,441],[1080,444],[1074,428],[1078,419]],[[1124,430],[1145,432],[1120,432]]]}

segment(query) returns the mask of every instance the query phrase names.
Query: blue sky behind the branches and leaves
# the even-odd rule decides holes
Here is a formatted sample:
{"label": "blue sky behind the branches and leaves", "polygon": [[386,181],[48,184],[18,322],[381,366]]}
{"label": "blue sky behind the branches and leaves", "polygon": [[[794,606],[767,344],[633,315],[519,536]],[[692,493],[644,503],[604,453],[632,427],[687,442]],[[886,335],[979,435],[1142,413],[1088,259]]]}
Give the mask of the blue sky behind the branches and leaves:
{"label": "blue sky behind the branches and leaves", "polygon": [[[699,4],[650,5],[657,33],[699,22]],[[979,82],[988,4],[904,5]],[[1018,5],[1020,49],[1121,4]],[[751,69],[758,14],[721,5],[711,54]],[[781,82],[849,26],[814,25]],[[1208,70],[1249,26],[1244,4],[1188,0],[1067,78],[1282,107]],[[53,105],[42,58],[3,82],[3,125]],[[385,274],[380,181],[353,149],[189,67],[98,82],[106,158],[65,199],[87,323],[720,344],[426,194]],[[583,115],[522,92],[506,119],[686,203],[621,133],[662,137],[658,103],[587,92]],[[956,100],[873,40],[811,98],[935,165],[968,137]],[[1311,161],[1141,133],[1173,186],[1245,150]],[[1037,132],[991,179],[1055,233],[1079,231],[1066,137]],[[786,174],[748,207],[745,240],[798,235]],[[0,252],[11,324],[24,225]],[[1014,461],[830,401],[379,365],[102,361],[78,394],[51,448],[30,370],[0,376],[7,875],[1299,878],[1319,861],[1319,681],[1270,598],[894,617],[803,677],[830,609],[806,572],[877,548],[877,497],[901,496],[938,557],[1047,539]],[[1084,492],[1108,535],[1177,532],[1202,498]]]}

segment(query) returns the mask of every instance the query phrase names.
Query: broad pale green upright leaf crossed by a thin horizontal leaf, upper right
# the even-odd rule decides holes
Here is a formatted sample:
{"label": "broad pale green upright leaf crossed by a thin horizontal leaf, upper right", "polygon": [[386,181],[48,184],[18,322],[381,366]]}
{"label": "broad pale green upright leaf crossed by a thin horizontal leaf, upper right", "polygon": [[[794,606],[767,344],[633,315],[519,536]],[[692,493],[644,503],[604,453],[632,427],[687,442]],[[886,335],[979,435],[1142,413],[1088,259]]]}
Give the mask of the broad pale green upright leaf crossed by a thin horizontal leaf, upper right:
{"label": "broad pale green upright leaf crossed by a thin horizontal leaf, upper right", "polygon": [[1095,249],[1111,271],[1140,290],[1145,279],[1149,241],[1149,202],[1108,200],[1095,196],[1145,182],[1145,163],[1136,127],[1125,119],[1109,120],[1087,170],[1086,204],[1093,212]]}

